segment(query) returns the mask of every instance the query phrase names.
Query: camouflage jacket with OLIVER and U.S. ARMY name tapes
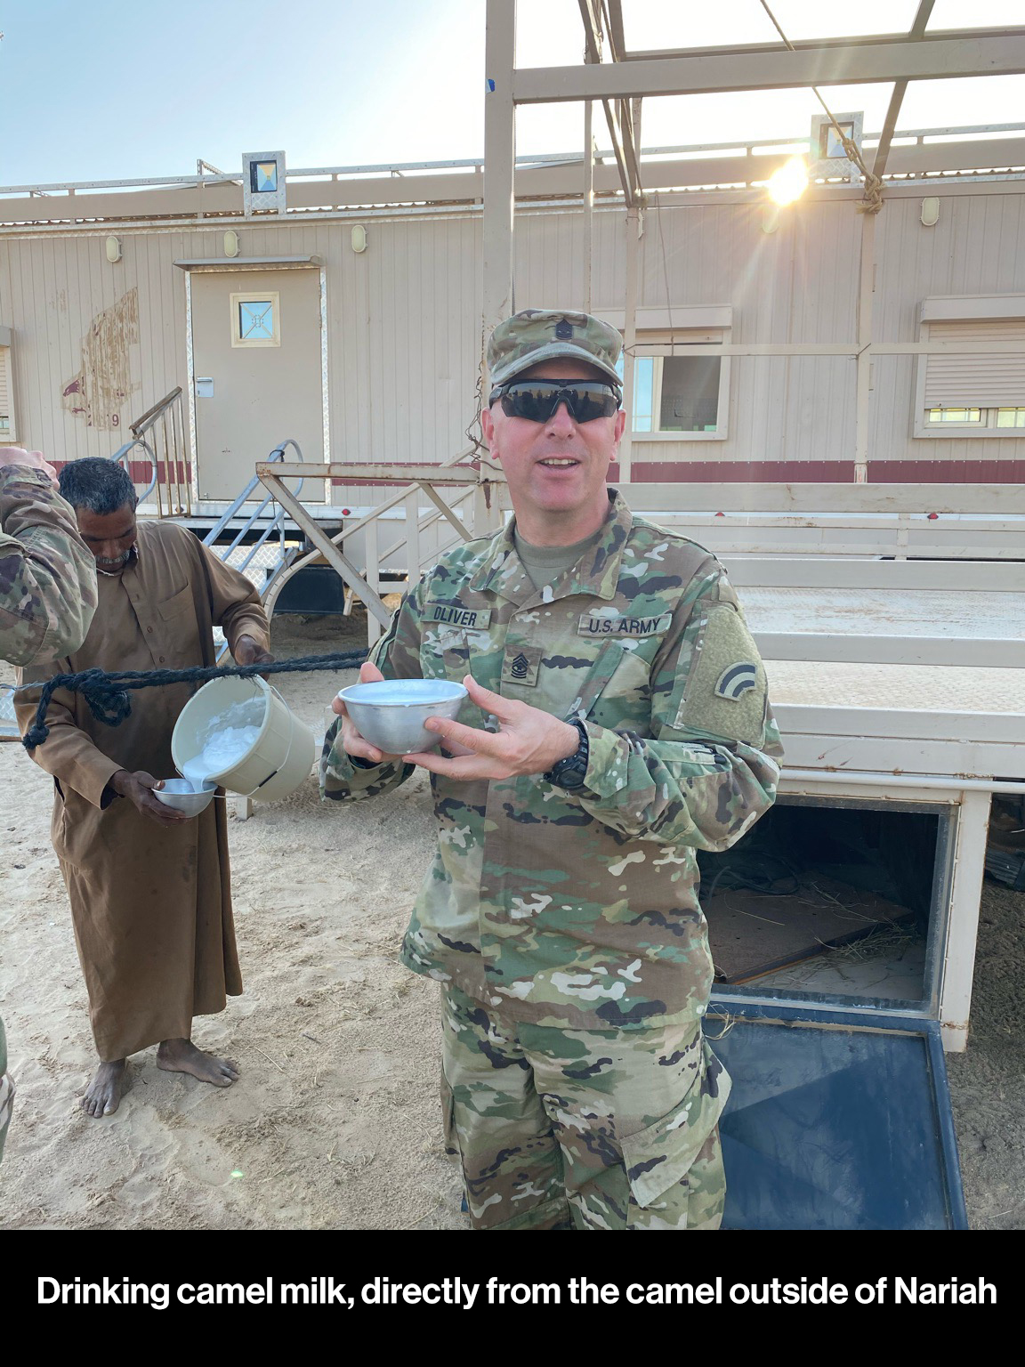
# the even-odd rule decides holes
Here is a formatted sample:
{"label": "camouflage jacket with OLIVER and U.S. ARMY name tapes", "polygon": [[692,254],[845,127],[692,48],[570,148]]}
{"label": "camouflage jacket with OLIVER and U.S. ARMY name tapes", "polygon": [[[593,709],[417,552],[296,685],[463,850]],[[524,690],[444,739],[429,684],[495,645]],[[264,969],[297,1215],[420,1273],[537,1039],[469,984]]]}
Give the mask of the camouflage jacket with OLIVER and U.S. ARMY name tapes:
{"label": "camouflage jacket with OLIVER and U.S. ARMY name tapes", "polygon": [[[407,968],[514,1018],[644,1028],[705,1010],[696,849],[724,850],[774,801],[765,671],[718,560],[615,495],[597,547],[536,591],[512,529],[450,551],[373,659],[388,678],[462,679],[588,729],[585,786],[432,776],[439,839]],[[482,726],[469,700],[459,720]],[[395,787],[324,742],[327,798]]]}

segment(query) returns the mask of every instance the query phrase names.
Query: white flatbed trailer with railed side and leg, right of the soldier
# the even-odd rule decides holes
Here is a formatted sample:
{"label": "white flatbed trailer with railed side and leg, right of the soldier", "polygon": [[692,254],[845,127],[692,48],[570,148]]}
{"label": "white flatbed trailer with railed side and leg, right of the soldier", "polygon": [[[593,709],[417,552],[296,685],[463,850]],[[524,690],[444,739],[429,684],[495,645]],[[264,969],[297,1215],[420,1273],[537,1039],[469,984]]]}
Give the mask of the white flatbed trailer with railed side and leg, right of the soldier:
{"label": "white flatbed trailer with railed side and leg, right of the soldier", "polygon": [[922,1010],[964,1050],[991,796],[1025,793],[1025,563],[724,560],[768,670],[780,793],[948,822]]}

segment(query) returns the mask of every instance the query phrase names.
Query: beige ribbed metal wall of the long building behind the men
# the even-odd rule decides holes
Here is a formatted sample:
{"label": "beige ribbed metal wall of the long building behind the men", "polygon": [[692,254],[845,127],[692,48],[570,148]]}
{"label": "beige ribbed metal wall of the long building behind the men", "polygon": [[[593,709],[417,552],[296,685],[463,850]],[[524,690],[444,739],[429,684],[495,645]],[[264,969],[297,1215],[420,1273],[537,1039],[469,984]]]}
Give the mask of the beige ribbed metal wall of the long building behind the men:
{"label": "beige ribbed metal wall of the long building behind the men", "polygon": [[[916,340],[921,301],[932,295],[1025,293],[1025,193],[943,195],[936,227],[920,200],[894,197],[877,220],[875,335]],[[809,201],[763,231],[754,201],[693,202],[645,213],[638,302],[646,308],[728,305],[734,342],[850,342],[857,336],[861,215],[851,201]],[[351,221],[251,223],[243,257],[316,254],[328,301],[332,458],[443,462],[466,446],[476,410],[481,347],[481,223],[472,215],[368,220],[368,250],[350,246]],[[593,219],[594,308],[622,308],[626,224]],[[109,454],[127,422],[187,383],[184,275],[172,262],[217,257],[223,230],[119,230],[123,260],[104,256],[105,232],[4,238],[0,317],[16,334],[14,402],[19,437],[56,458]],[[517,212],[518,306],[584,303],[581,209]],[[127,343],[128,385],[107,427],[71,413],[64,388],[105,310],[137,290],[138,339]],[[969,463],[1025,459],[1025,439],[913,433],[914,360],[873,364],[869,458],[928,458],[964,478]],[[116,416],[118,422],[112,418]],[[847,357],[735,357],[726,440],[634,442],[644,465],[709,468],[749,462],[853,459],[856,364]],[[268,451],[287,433],[268,424]],[[955,466],[961,465],[961,470]],[[988,468],[988,466],[987,466]],[[884,477],[882,473],[873,477]],[[335,491],[335,498],[340,496]],[[366,491],[344,488],[366,502]]]}

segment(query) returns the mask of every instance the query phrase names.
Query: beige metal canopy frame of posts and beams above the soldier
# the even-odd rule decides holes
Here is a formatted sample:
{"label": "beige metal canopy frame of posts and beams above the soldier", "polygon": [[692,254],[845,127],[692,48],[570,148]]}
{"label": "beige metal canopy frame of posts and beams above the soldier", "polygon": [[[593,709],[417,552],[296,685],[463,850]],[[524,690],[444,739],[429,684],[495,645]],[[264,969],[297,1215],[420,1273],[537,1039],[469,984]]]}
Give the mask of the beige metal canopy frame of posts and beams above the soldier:
{"label": "beige metal canopy frame of posts and beams above the soldier", "polygon": [[[925,29],[935,0],[920,0],[905,34],[845,40],[693,51],[631,52],[626,48],[622,0],[578,0],[585,37],[585,60],[578,67],[515,67],[517,0],[488,0],[487,96],[484,105],[484,282],[481,317],[481,387],[488,384],[484,342],[492,328],[515,312],[512,275],[515,111],[521,104],[584,101],[584,213],[585,286],[590,308],[590,242],[593,213],[593,142],[590,104],[600,100],[612,139],[626,201],[626,299],[623,406],[633,413],[634,346],[640,243],[644,236],[645,191],[641,180],[641,100],[644,96],[711,92],[774,90],[794,86],[894,82],[873,164],[866,168],[862,215],[857,339],[847,354],[857,365],[854,480],[868,480],[868,409],[873,354],[872,295],[875,287],[875,219],[882,208],[882,175],[892,145],[897,119],[910,81],[951,77],[1015,75],[1025,72],[1025,29],[944,31]],[[707,349],[724,354],[724,347]],[[730,349],[750,351],[749,347]],[[801,347],[801,350],[805,350]],[[816,351],[825,350],[821,344]],[[697,354],[698,349],[693,349]],[[631,478],[631,424],[619,450],[620,478]]]}

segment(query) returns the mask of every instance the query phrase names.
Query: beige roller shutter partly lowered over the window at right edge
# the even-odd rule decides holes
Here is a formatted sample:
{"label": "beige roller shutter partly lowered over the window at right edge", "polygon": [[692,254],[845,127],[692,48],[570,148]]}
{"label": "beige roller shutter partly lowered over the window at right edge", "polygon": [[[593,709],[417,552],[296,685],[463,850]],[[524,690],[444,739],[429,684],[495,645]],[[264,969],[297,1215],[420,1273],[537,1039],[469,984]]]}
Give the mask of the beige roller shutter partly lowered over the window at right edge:
{"label": "beige roller shutter partly lowered over the window at right edge", "polygon": [[1025,320],[931,323],[931,342],[1017,342],[1020,355],[931,355],[925,364],[927,407],[1025,405]]}

